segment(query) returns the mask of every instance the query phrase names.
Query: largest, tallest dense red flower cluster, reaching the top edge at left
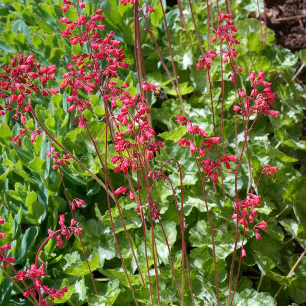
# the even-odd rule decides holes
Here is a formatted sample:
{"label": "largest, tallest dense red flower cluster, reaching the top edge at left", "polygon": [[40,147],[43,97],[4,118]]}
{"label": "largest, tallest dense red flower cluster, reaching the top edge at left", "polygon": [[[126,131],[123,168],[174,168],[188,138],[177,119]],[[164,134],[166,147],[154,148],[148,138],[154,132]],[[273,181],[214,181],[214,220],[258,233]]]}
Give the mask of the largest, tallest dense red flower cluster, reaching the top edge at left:
{"label": "largest, tallest dense red flower cluster, reaching the top edge at left", "polygon": [[[83,2],[74,3],[65,0],[63,2],[67,4],[65,12],[70,6],[73,6],[79,12],[84,8]],[[101,38],[99,30],[104,30],[104,24],[97,24],[96,21],[104,20],[106,17],[102,15],[103,10],[98,9],[93,15],[87,19],[85,16],[78,13],[78,20],[73,21],[69,18],[62,17],[60,21],[67,25],[65,31],[62,32],[62,36],[72,36],[69,38],[73,45],[84,43],[88,45],[90,53],[76,54],[71,56],[72,62],[67,65],[69,72],[63,74],[64,81],[60,84],[59,88],[65,89],[70,86],[72,95],[67,97],[67,102],[73,103],[68,110],[73,112],[75,108],[78,110],[76,118],[73,120],[73,124],[78,123],[79,128],[84,127],[84,123],[87,122],[87,118],[84,117],[83,111],[89,108],[91,104],[80,98],[80,90],[83,89],[87,94],[93,90],[100,91],[103,94],[105,103],[111,100],[111,106],[116,107],[116,100],[119,94],[127,94],[121,88],[125,88],[124,85],[121,88],[117,88],[116,82],[111,81],[113,76],[118,76],[116,70],[119,67],[128,68],[129,64],[123,62],[125,55],[123,49],[119,48],[121,42],[117,39],[112,39],[114,32],[111,31],[108,36]],[[79,32],[74,32],[75,28],[79,28]],[[103,61],[103,64],[102,62]],[[102,69],[101,67],[104,68]],[[106,84],[105,84],[106,81]],[[110,91],[110,93],[106,93]]]}

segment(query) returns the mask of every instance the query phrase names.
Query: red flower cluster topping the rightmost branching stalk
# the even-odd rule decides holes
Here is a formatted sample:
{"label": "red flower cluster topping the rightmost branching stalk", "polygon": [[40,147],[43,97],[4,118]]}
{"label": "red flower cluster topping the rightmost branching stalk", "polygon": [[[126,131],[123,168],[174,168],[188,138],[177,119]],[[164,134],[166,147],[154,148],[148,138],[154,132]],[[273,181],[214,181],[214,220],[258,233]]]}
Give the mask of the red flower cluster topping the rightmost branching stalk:
{"label": "red flower cluster topping the rightmost branching stalk", "polygon": [[[264,114],[264,116],[271,115],[275,118],[278,117],[279,111],[270,110],[270,105],[274,105],[276,93],[272,92],[271,83],[263,80],[265,77],[263,71],[260,71],[257,77],[253,72],[250,72],[249,76],[252,82],[251,87],[254,89],[252,89],[249,96],[245,94],[244,89],[241,89],[239,94],[244,99],[244,108],[235,105],[233,110],[240,111],[243,116],[250,116],[252,113],[257,113],[258,116]],[[257,86],[259,85],[263,85],[264,87],[260,93],[257,90]]]}

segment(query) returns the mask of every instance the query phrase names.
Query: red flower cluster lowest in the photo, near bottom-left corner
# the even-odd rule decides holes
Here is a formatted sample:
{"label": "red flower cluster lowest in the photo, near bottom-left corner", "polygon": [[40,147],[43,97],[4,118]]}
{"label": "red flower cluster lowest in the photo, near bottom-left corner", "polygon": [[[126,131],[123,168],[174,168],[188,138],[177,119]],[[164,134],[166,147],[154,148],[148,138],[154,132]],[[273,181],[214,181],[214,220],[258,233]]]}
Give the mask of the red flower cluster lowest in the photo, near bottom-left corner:
{"label": "red flower cluster lowest in the photo, near bottom-left corner", "polygon": [[68,291],[68,288],[64,287],[60,290],[57,290],[56,287],[52,287],[50,289],[48,286],[43,285],[43,281],[40,279],[40,277],[48,275],[45,271],[45,267],[47,265],[41,259],[39,260],[41,262],[41,266],[39,268],[37,268],[33,263],[31,268],[28,267],[25,271],[19,271],[17,275],[14,276],[14,278],[21,282],[24,282],[26,279],[30,279],[32,281],[32,285],[28,287],[23,296],[28,297],[30,294],[32,294],[33,297],[36,297],[37,293],[40,293],[42,289],[47,294],[47,296],[43,298],[40,305],[50,306],[50,304],[47,302],[47,298],[50,297],[52,301],[54,301],[54,298],[61,300],[65,292]]}

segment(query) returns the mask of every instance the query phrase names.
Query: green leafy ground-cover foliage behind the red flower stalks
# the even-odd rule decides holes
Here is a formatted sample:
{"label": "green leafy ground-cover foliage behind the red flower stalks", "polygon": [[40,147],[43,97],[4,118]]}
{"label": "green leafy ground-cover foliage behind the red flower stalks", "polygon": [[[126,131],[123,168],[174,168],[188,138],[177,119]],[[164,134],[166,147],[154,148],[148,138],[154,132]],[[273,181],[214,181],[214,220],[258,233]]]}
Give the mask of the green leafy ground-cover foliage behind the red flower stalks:
{"label": "green leafy ground-cover foliage behind the red flower stalks", "polygon": [[[2,248],[0,253],[2,256],[0,257],[2,261],[1,306],[31,305],[30,300],[35,300],[33,292],[31,297],[28,291],[29,299],[26,299],[13,284],[12,277],[16,274],[12,267],[18,272],[31,267],[36,261],[37,269],[38,257],[43,262],[38,260],[39,266],[45,269],[47,275],[35,274],[32,277],[35,280],[41,279],[48,288],[66,288],[63,294],[58,293],[61,299],[48,298],[46,302],[49,304],[93,306],[103,304],[181,305],[184,303],[185,305],[226,305],[230,303],[231,305],[293,306],[306,303],[304,290],[306,257],[300,257],[306,247],[304,201],[306,142],[300,140],[305,108],[304,89],[294,81],[293,77],[297,70],[298,59],[306,63],[306,52],[300,51],[294,54],[284,47],[277,46],[274,32],[267,29],[265,34],[264,26],[261,30],[259,20],[249,17],[250,13],[258,12],[257,2],[247,0],[231,2],[233,22],[238,28],[236,39],[240,42],[235,46],[238,53],[235,64],[243,69],[236,77],[237,88],[245,89],[246,94],[249,95],[252,89],[249,73],[252,71],[258,76],[260,71],[263,71],[266,75],[265,80],[271,83],[272,91],[276,92],[276,100],[271,109],[279,111],[279,114],[256,117],[253,129],[248,132],[248,154],[245,150],[242,155],[236,182],[234,174],[222,171],[221,177],[221,170],[207,171],[210,177],[204,180],[204,198],[203,171],[202,174],[198,171],[195,155],[190,152],[192,146],[189,143],[189,148],[185,148],[179,146],[177,142],[192,135],[190,139],[197,146],[201,145],[203,139],[198,135],[199,132],[187,134],[187,129],[190,132],[191,122],[193,127],[198,126],[208,133],[207,138],[222,136],[218,144],[220,156],[237,155],[239,160],[245,144],[244,120],[239,111],[233,110],[233,106],[239,104],[237,103],[239,94],[235,92],[235,83],[231,82],[232,78],[227,78],[232,72],[230,63],[223,63],[221,68],[218,40],[216,43],[210,42],[210,49],[217,49],[217,58],[211,62],[209,69],[211,92],[207,87],[209,84],[207,71],[203,71],[203,68],[207,67],[205,63],[201,70],[196,70],[203,52],[198,44],[189,2],[181,1],[186,29],[181,25],[180,9],[176,5],[167,7],[165,2],[162,3],[167,28],[163,19],[162,6],[157,0],[149,3],[149,6],[155,9],[154,12],[146,12],[144,8],[136,19],[132,3],[118,3],[115,0],[88,1],[84,2],[84,8],[78,3],[80,14],[88,19],[101,8],[102,15],[106,17],[100,23],[97,22],[97,24],[105,24],[105,32],[101,31],[101,37],[104,38],[110,31],[114,31],[112,39],[121,42],[118,48],[124,50],[126,56],[124,62],[129,66],[121,65],[116,70],[116,74],[112,74],[111,81],[116,81],[118,87],[123,85],[122,88],[132,96],[144,90],[143,96],[150,105],[148,121],[156,132],[154,140],[164,143],[156,143],[159,150],[153,152],[154,158],[147,160],[144,167],[147,167],[147,170],[157,171],[155,176],[158,176],[160,167],[169,159],[176,159],[181,166],[182,186],[180,171],[174,161],[167,162],[162,169],[162,173],[169,178],[168,180],[165,177],[159,180],[150,179],[150,186],[155,183],[149,192],[150,199],[158,208],[154,207],[149,200],[148,206],[147,203],[141,203],[144,207],[144,217],[138,213],[141,212],[140,204],[133,200],[133,196],[137,198],[137,195],[140,195],[143,201],[147,200],[149,188],[146,188],[146,181],[137,184],[138,171],[132,171],[132,165],[126,173],[116,170],[114,172],[118,164],[110,162],[111,158],[118,156],[118,151],[116,152],[116,147],[106,129],[106,126],[109,126],[106,125],[107,108],[104,105],[107,97],[103,98],[102,93],[97,89],[88,90],[88,92],[81,89],[79,93],[82,99],[91,104],[91,106],[85,105],[84,110],[81,110],[82,116],[84,115],[88,121],[81,120],[79,127],[80,125],[88,127],[93,139],[98,140],[94,143],[88,137],[86,128],[78,128],[79,119],[84,117],[77,117],[78,122],[74,124],[80,109],[77,110],[78,107],[76,107],[72,109],[72,112],[69,111],[72,105],[69,97],[73,95],[73,92],[70,86],[63,88],[64,86],[61,85],[63,74],[71,72],[66,67],[68,63],[75,65],[71,61],[71,56],[91,51],[86,44],[83,46],[80,43],[72,44],[69,41],[70,36],[62,35],[67,25],[60,22],[61,17],[78,20],[73,7],[63,14],[61,8],[67,3],[63,5],[53,0],[43,2],[4,0],[0,4],[1,72],[5,73],[3,66],[10,66],[12,57],[18,52],[24,55],[33,54],[35,61],[40,61],[41,67],[51,65],[56,67],[53,73],[54,80],[48,80],[46,88],[58,89],[60,85],[62,86],[55,95],[53,92],[48,94],[38,92],[31,96],[32,111],[23,110],[27,122],[21,124],[23,119],[15,120],[10,111],[0,118],[0,220],[2,220],[0,232],[5,233],[0,240],[0,248],[10,244],[10,248]],[[141,7],[145,5],[146,3],[140,2]],[[218,6],[220,12],[226,13],[225,2],[219,1]],[[264,11],[262,3],[259,3],[259,9],[261,12]],[[215,36],[212,29],[218,27],[216,2],[211,4],[210,10],[208,26],[211,39]],[[206,2],[192,2],[192,13],[199,39],[204,50],[207,51],[209,48],[207,48]],[[138,19],[140,32],[138,36],[135,36],[134,30],[138,26]],[[171,44],[167,39],[167,29]],[[159,46],[158,51],[152,34]],[[142,63],[135,62],[135,37],[141,40]],[[225,42],[224,48],[226,48]],[[174,67],[170,51],[173,52]],[[137,56],[140,55],[136,52],[136,58]],[[161,58],[169,69],[171,78]],[[139,65],[145,67],[149,85],[139,82]],[[102,69],[105,68],[106,65],[102,67]],[[176,84],[174,68],[180,84],[181,99],[173,86]],[[144,75],[144,70],[142,73]],[[103,78],[101,75],[100,77]],[[125,83],[129,83],[129,87],[126,88]],[[166,92],[166,99],[158,99],[156,94],[154,96],[152,89],[155,90],[155,86]],[[3,90],[3,93],[7,91]],[[124,104],[121,102],[118,99],[118,107]],[[1,97],[3,111],[5,103],[9,103],[9,97],[3,96]],[[27,107],[26,102],[23,107]],[[33,117],[33,113],[36,118]],[[114,116],[119,113],[120,110],[115,108]],[[185,116],[186,120],[190,118],[191,121],[187,123],[185,119],[177,116]],[[37,131],[41,129],[37,119],[54,139],[50,138],[45,130]],[[251,116],[250,120],[254,119],[255,117]],[[137,122],[139,124],[139,118]],[[28,131],[36,131],[32,133],[36,137],[35,141],[31,139],[31,132],[28,136],[20,134],[20,130],[26,128],[29,129]],[[125,126],[120,125],[120,128],[121,132],[128,130]],[[101,134],[103,129],[106,132]],[[18,140],[22,138],[21,146],[18,145],[18,140],[14,139],[17,135],[20,135]],[[212,142],[211,150],[207,148],[208,143],[205,143],[205,153],[209,155],[210,160],[219,159],[215,142],[217,140]],[[61,166],[60,169],[54,169],[56,168],[54,165],[62,165],[57,158],[67,153],[59,144],[71,152],[93,175],[85,171],[80,163],[69,159],[69,156],[65,159],[70,162],[67,167]],[[50,146],[54,147],[50,148]],[[198,150],[200,151],[200,147]],[[59,156],[54,155],[57,151]],[[97,151],[101,154],[107,171],[101,165]],[[127,154],[124,150],[122,152]],[[149,155],[146,156],[149,158]],[[50,157],[56,161],[53,162]],[[200,158],[196,159],[200,163]],[[234,159],[231,159],[231,171],[235,171],[237,167]],[[261,175],[263,166],[267,164],[277,167],[276,173],[272,171],[273,177],[269,177],[266,173]],[[218,166],[215,167],[218,168]],[[207,175],[207,172],[204,175]],[[130,186],[127,173],[134,185],[133,191],[125,190],[126,193],[122,195],[123,190],[119,189],[117,195],[116,193],[114,195],[114,192],[108,195],[106,192],[107,188],[110,190],[110,187],[106,186],[109,185],[106,183],[108,180],[112,182],[114,190],[122,186]],[[268,173],[271,174],[271,171]],[[61,176],[63,176],[65,187]],[[260,181],[255,188],[259,177]],[[174,187],[177,206],[170,181]],[[139,189],[139,192],[135,192],[136,189]],[[182,211],[181,190],[183,190],[184,226],[177,214],[177,207],[180,214]],[[127,196],[128,192],[129,196]],[[252,192],[260,196],[263,202],[256,206],[258,215],[254,216],[256,219],[254,224],[267,222],[267,229],[246,232],[247,226],[244,219],[243,224],[239,225],[239,235],[235,239],[238,222],[231,218],[235,198],[238,194],[239,199],[246,199],[248,193]],[[115,196],[116,199],[118,196],[118,205],[113,200]],[[68,200],[70,203],[72,199],[77,199],[74,202],[75,210],[70,209],[72,205],[69,205],[67,198],[70,199]],[[110,209],[108,203],[110,203]],[[122,212],[124,225],[121,222],[118,207]],[[138,212],[135,207],[138,208]],[[209,216],[206,207],[209,209]],[[80,223],[71,223],[70,227],[68,225],[65,227],[63,215],[66,223],[69,223],[72,218]],[[229,219],[230,222],[226,223]],[[214,228],[226,223],[219,230],[214,230],[215,251],[213,251],[211,240],[210,220]],[[251,221],[249,218],[248,220]],[[254,225],[250,223],[248,226],[251,230]],[[58,240],[49,239],[43,248],[39,249],[49,236],[48,230],[54,233],[61,230],[61,227],[62,230],[69,230],[76,235],[72,235],[69,240],[63,236],[62,242],[59,238]],[[77,230],[80,228],[83,230],[82,233]],[[82,238],[82,241],[78,239],[78,236]],[[164,236],[167,237],[167,243]],[[152,237],[155,240],[153,244]],[[241,248],[242,244],[243,248]],[[92,276],[88,270],[83,246],[93,271]],[[182,247],[185,248],[185,252],[184,250],[182,252]],[[188,259],[188,267],[186,267],[185,256]],[[15,258],[15,260],[6,267],[8,258]],[[135,258],[138,261],[138,267]],[[298,265],[295,266],[297,262]],[[215,281],[216,267],[218,288]],[[291,272],[293,267],[294,271]],[[176,275],[175,278],[174,275]],[[239,279],[236,283],[238,275]],[[95,279],[96,288],[91,277]],[[191,294],[189,279],[193,294]],[[228,302],[230,282],[233,284],[230,291],[231,297],[233,297],[233,291],[236,293]],[[17,283],[22,290],[26,291],[24,284]],[[31,279],[26,279],[25,283],[29,288],[32,286]],[[40,289],[40,285],[36,283],[35,288]],[[43,297],[52,297],[55,293],[55,291],[52,294],[44,292],[44,294],[40,293],[39,290],[36,293],[37,299],[39,297],[39,305],[43,305]],[[182,302],[182,292],[184,302]]]}

